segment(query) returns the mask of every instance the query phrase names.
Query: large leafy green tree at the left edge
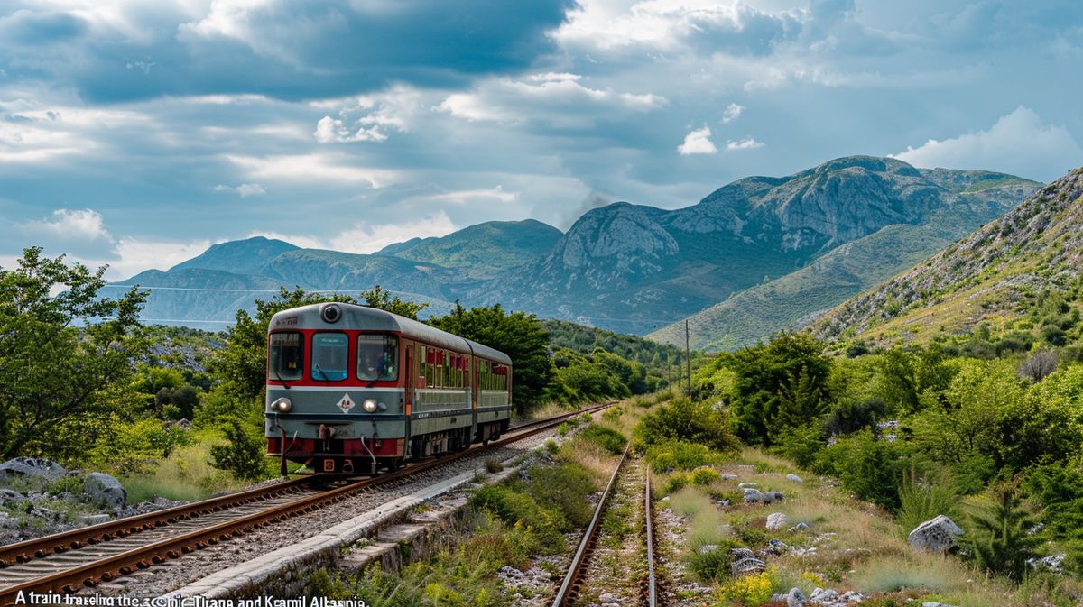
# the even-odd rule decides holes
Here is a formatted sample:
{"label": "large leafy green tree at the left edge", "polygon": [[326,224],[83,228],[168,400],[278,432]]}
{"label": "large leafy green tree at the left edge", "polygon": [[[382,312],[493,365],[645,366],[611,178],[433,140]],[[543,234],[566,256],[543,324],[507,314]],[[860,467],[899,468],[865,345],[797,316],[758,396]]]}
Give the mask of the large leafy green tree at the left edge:
{"label": "large leafy green tree at the left edge", "polygon": [[104,417],[132,392],[146,293],[100,299],[105,269],[42,258],[39,247],[17,268],[0,267],[0,457],[50,456],[58,425]]}

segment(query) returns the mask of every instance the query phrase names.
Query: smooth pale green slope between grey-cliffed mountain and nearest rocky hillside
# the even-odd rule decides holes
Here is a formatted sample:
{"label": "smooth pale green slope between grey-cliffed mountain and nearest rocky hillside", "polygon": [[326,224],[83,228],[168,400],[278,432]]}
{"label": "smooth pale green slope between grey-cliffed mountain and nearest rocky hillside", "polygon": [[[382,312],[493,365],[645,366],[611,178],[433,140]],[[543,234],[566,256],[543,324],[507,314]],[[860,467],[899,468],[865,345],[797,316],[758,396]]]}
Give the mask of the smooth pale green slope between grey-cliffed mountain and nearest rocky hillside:
{"label": "smooth pale green slope between grey-cliffed mountain and nearest rocky hillside", "polygon": [[[785,328],[800,328],[823,311],[885,280],[1000,216],[1040,184],[986,171],[919,170],[948,190],[947,206],[924,223],[891,224],[823,254],[809,265],[752,287],[689,317],[690,342],[705,351],[736,349]],[[648,338],[683,344],[684,322]]]}

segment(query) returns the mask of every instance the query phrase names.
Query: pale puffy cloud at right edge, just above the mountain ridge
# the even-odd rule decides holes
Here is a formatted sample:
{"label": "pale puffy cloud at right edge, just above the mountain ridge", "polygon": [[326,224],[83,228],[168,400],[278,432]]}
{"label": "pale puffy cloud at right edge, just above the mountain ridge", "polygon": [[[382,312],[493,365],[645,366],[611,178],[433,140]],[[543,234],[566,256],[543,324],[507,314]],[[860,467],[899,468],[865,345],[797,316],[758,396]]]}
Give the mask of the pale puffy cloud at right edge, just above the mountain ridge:
{"label": "pale puffy cloud at right edge, just above the mountain ridge", "polygon": [[892,155],[917,167],[984,169],[1052,181],[1083,164],[1083,149],[1064,127],[1045,124],[1019,106],[987,131],[948,140],[928,140]]}

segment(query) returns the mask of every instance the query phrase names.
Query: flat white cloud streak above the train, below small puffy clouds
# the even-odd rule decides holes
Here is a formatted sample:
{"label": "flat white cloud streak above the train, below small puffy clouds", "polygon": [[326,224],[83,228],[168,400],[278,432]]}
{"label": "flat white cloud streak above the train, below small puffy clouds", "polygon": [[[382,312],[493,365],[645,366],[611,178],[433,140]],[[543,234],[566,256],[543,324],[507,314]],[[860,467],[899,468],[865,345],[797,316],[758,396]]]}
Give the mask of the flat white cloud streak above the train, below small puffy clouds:
{"label": "flat white cloud streak above the train, below small puffy clouds", "polygon": [[368,185],[384,187],[400,181],[399,171],[354,167],[350,158],[334,154],[306,154],[288,156],[226,155],[227,160],[240,167],[250,177],[271,182],[303,184],[334,183],[338,185]]}

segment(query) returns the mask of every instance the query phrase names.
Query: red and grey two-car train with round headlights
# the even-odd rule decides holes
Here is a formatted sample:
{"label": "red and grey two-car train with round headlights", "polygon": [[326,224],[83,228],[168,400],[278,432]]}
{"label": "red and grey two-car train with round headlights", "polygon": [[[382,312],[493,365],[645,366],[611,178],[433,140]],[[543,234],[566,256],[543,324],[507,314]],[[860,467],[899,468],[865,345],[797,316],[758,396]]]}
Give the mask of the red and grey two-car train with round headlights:
{"label": "red and grey two-car train with round headlights", "polygon": [[376,474],[507,432],[512,365],[389,312],[321,303],[268,327],[266,454],[319,475]]}

